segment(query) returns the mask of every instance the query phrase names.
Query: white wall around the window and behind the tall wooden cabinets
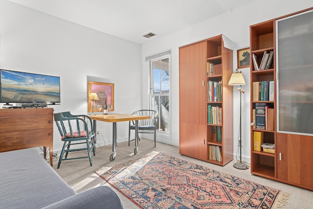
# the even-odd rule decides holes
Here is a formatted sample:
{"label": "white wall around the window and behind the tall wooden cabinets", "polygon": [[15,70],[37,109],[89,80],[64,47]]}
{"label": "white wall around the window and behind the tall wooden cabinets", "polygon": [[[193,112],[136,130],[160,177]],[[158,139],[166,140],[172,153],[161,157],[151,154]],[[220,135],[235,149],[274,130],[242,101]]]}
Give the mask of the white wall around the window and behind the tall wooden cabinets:
{"label": "white wall around the window and behind the tall wooden cabinets", "polygon": [[[194,43],[219,34],[226,35],[236,43],[237,49],[249,47],[249,26],[293,12],[313,7],[312,0],[255,0],[247,5],[228,11],[218,17],[206,20],[189,28],[169,34],[163,38],[155,36],[142,46],[142,101],[148,106],[148,63],[144,58],[168,49],[172,50],[171,71],[171,112],[172,137],[159,141],[179,145],[179,46]],[[208,8],[208,12],[210,8]],[[233,71],[237,68],[237,51],[234,50]],[[243,160],[250,162],[250,72],[241,69],[246,84],[243,90]],[[234,87],[234,155],[237,153],[239,132],[239,91]]]}

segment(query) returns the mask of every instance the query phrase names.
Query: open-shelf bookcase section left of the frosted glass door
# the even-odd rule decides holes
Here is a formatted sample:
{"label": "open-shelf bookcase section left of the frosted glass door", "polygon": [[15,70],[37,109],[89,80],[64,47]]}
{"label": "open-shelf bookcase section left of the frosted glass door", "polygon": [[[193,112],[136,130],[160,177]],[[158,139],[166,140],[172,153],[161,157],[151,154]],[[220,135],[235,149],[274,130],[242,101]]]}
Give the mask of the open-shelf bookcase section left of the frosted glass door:
{"label": "open-shelf bookcase section left of the frosted glass door", "polygon": [[[262,82],[262,81],[274,81],[274,89],[276,88],[276,70],[275,70],[275,34],[274,34],[274,24],[275,21],[267,21],[264,23],[259,23],[250,26],[250,53],[254,54],[257,57],[258,65],[262,61],[262,57],[265,51],[270,52],[274,51],[274,64],[273,68],[268,70],[256,70],[253,65],[252,56],[250,56],[250,111],[251,111],[251,121],[253,121],[252,111],[256,108],[258,103],[266,103],[269,106],[274,108],[274,121],[276,121],[276,99],[274,93],[274,101],[253,101],[253,82]],[[268,131],[263,129],[256,129],[251,126],[251,173],[275,179],[276,170],[275,170],[275,154],[267,153],[263,151],[254,151],[253,149],[253,133],[255,131],[263,132],[264,142],[276,144],[276,122],[274,122],[274,131]]]}

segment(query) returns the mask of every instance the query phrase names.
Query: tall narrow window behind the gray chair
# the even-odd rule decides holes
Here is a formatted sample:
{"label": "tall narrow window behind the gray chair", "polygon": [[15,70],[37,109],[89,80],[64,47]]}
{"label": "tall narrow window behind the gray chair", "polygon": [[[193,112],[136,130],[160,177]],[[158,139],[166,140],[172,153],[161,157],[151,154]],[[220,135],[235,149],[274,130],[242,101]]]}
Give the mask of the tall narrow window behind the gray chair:
{"label": "tall narrow window behind the gray chair", "polygon": [[156,130],[170,134],[170,55],[150,60],[150,106],[157,111]]}

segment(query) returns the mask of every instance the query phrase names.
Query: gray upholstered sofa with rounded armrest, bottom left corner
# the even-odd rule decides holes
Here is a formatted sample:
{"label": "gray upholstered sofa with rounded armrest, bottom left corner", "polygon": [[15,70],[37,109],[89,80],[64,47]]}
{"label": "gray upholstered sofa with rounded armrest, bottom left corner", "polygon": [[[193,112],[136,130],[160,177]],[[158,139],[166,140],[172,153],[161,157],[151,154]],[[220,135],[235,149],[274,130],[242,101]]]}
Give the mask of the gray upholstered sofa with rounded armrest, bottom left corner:
{"label": "gray upholstered sofa with rounded armrest, bottom left corner", "polygon": [[0,153],[0,209],[122,209],[116,193],[98,186],[76,194],[34,149]]}

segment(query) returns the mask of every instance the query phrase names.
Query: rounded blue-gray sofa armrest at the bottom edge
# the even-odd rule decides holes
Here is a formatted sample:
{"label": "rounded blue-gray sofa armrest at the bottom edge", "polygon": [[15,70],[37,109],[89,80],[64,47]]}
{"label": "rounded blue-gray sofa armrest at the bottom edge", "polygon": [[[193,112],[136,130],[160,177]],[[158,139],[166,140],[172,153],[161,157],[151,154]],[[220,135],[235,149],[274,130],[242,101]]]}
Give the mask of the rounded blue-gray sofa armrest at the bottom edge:
{"label": "rounded blue-gray sofa armrest at the bottom edge", "polygon": [[123,209],[117,194],[109,186],[97,186],[68,197],[43,209]]}

